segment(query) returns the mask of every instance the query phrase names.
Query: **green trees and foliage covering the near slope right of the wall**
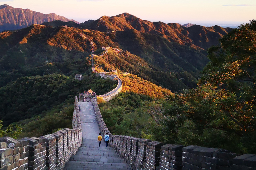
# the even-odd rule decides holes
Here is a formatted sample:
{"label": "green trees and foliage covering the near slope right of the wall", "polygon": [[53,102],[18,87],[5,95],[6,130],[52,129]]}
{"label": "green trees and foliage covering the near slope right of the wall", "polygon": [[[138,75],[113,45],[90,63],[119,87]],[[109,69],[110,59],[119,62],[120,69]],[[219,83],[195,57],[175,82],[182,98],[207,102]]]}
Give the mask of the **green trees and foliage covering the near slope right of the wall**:
{"label": "green trees and foliage covering the near slope right of the wall", "polygon": [[114,134],[256,153],[256,21],[208,50],[197,87],[164,99],[121,93],[100,109]]}

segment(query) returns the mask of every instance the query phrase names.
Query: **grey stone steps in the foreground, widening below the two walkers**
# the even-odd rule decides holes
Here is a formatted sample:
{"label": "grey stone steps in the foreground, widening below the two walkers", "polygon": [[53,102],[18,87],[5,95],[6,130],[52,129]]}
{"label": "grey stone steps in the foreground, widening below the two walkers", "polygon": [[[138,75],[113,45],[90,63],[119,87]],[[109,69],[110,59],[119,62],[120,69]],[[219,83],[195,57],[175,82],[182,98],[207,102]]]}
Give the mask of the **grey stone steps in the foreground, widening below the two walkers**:
{"label": "grey stone steps in the foreground, widening below the two walkers", "polygon": [[132,170],[124,159],[112,147],[106,147],[102,141],[99,147],[97,140],[86,139],[77,154],[70,157],[64,170]]}

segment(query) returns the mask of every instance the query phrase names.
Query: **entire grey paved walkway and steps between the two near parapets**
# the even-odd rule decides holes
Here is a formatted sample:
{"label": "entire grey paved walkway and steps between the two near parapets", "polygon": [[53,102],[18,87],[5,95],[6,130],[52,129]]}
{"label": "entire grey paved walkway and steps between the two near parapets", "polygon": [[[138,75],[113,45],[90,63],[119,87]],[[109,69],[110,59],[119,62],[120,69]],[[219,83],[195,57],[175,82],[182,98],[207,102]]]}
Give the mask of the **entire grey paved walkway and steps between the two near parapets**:
{"label": "entire grey paved walkway and steps between the two near parapets", "polygon": [[106,147],[104,135],[99,147],[97,141],[99,125],[91,102],[78,102],[81,106],[80,119],[83,142],[77,153],[70,157],[64,170],[132,170],[131,165],[117,154],[112,147]]}

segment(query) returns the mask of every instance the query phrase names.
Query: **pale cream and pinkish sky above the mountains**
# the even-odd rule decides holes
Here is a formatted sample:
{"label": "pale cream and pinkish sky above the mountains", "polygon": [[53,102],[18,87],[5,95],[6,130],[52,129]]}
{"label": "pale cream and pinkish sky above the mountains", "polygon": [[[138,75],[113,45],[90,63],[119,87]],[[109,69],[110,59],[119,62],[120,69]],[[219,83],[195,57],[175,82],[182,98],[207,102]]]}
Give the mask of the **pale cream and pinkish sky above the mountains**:
{"label": "pale cream and pinkish sky above the mountains", "polygon": [[3,4],[56,13],[80,23],[124,12],[143,20],[206,26],[240,25],[256,19],[256,0],[0,0]]}

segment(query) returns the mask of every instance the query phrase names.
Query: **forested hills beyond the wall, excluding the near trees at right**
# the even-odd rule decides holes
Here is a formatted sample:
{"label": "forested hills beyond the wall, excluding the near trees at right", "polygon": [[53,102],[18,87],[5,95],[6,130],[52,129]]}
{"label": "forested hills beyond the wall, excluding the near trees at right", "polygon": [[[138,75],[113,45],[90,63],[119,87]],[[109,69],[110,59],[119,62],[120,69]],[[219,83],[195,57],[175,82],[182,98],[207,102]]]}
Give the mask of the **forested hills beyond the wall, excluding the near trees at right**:
{"label": "forested hills beyond the wall, excluding the near trees at right", "polygon": [[[199,72],[208,59],[205,49],[185,35],[186,28],[163,23],[156,27],[157,23],[138,18],[135,21],[146,22],[154,29],[143,31],[128,25],[129,29],[124,27],[115,31],[109,27],[109,30],[100,32],[98,27],[93,28],[96,21],[82,24],[84,28],[65,28],[58,26],[64,23],[55,21],[46,23],[46,26],[32,25],[0,33],[0,119],[3,119],[4,126],[10,123],[20,125],[23,127],[21,136],[38,136],[71,126],[72,103],[79,91],[92,89],[100,95],[116,86],[115,81],[92,74],[91,51],[95,50],[93,54],[102,53],[102,46],[120,49],[119,53],[110,48],[103,56],[94,55],[94,64],[100,71],[118,71],[124,85],[122,104],[126,104],[129,96],[128,101],[135,103],[132,108],[141,109],[143,102],[196,87]],[[105,22],[112,22],[113,28],[125,24],[123,21]],[[74,23],[69,24],[77,27]],[[87,29],[89,27],[91,29]],[[220,33],[213,28],[201,29],[207,30],[206,37],[209,34],[222,37],[228,31],[219,28]],[[193,36],[200,35],[195,33]],[[207,44],[218,43],[208,39],[204,42]],[[129,74],[120,74],[124,72]],[[84,75],[82,81],[74,80],[78,73]],[[133,111],[132,108],[126,108],[124,113]],[[141,134],[150,133],[138,133]]]}

